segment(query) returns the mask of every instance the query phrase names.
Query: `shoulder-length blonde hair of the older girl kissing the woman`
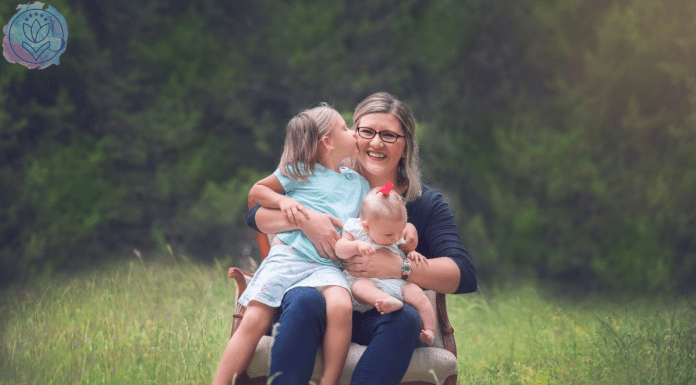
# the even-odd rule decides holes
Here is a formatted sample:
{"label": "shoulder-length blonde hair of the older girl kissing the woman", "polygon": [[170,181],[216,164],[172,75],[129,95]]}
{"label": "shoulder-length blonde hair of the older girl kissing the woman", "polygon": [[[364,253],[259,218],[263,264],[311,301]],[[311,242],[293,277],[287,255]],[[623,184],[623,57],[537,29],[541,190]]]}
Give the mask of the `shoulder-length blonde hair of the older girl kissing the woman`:
{"label": "shoulder-length blonde hair of the older girl kissing the woman", "polygon": [[319,142],[341,116],[326,103],[304,110],[290,119],[285,133],[285,146],[278,168],[284,176],[306,181],[319,163]]}

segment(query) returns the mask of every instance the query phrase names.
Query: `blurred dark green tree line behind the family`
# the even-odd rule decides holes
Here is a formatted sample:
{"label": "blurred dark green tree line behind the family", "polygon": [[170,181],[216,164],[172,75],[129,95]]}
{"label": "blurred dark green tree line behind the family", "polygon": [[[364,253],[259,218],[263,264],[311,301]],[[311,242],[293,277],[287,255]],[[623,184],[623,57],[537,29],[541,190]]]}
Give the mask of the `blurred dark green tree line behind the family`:
{"label": "blurred dark green tree line behind the family", "polygon": [[3,282],[133,248],[242,255],[290,117],[387,91],[480,274],[694,286],[691,1],[50,4],[60,66],[0,63]]}

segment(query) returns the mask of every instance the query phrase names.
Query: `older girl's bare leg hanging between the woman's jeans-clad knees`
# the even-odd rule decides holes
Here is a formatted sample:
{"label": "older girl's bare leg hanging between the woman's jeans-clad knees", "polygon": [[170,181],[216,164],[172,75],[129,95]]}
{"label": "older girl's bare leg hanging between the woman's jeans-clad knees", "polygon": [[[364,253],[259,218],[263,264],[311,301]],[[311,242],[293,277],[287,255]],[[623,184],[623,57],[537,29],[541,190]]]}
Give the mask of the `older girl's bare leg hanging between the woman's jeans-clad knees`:
{"label": "older girl's bare leg hanging between the woman's jeans-clad knees", "polygon": [[322,291],[326,298],[326,333],[324,334],[324,373],[319,385],[335,385],[346,362],[353,326],[353,302],[348,290],[329,286]]}

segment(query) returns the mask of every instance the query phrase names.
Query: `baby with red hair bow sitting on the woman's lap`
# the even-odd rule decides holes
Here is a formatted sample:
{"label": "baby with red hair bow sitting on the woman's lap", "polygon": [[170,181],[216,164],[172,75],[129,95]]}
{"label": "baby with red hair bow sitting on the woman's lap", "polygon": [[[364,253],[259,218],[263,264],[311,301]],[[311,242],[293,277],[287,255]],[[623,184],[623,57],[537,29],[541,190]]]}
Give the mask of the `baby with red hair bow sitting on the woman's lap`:
{"label": "baby with red hair bow sitting on the woman's lap", "polygon": [[[406,226],[406,206],[399,194],[391,191],[391,184],[381,190],[375,188],[365,196],[360,218],[350,218],[343,225],[343,235],[336,241],[336,256],[341,259],[358,254],[370,256],[375,254],[376,248],[385,247],[404,261],[427,263],[425,257],[415,251],[415,245],[413,248],[403,246]],[[407,257],[401,249],[407,249]],[[427,345],[433,344],[435,311],[418,285],[403,279],[354,278],[345,273],[353,298],[357,300],[353,310],[364,313],[375,307],[386,314],[401,309],[403,300],[418,311],[423,321],[420,340]]]}

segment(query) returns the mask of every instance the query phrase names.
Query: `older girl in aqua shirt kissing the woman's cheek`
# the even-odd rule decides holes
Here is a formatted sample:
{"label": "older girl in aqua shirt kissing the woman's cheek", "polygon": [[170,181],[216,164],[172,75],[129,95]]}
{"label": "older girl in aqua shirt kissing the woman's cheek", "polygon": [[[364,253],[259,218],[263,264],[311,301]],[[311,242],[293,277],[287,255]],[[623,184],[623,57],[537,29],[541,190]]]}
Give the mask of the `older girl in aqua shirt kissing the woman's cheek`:
{"label": "older girl in aqua shirt kissing the woman's cheek", "polygon": [[[280,208],[292,222],[302,221],[302,215],[309,214],[308,208],[346,221],[358,214],[370,189],[355,171],[339,168],[341,160],[356,154],[355,133],[336,110],[322,104],[303,111],[288,123],[278,169],[257,182],[249,196],[264,207]],[[286,195],[278,194],[282,192]],[[316,287],[326,299],[320,384],[336,384],[352,327],[349,286],[338,266],[320,257],[301,231],[278,233],[268,257],[239,299],[247,309],[223,353],[214,385],[229,385],[235,375],[246,370],[283,294],[294,287]]]}

